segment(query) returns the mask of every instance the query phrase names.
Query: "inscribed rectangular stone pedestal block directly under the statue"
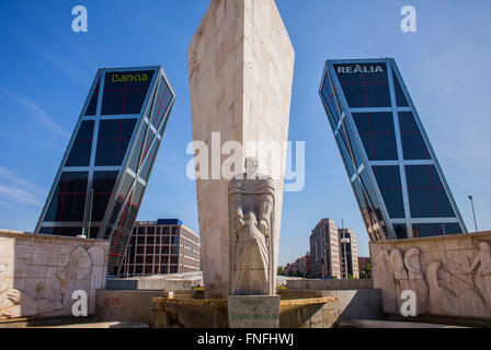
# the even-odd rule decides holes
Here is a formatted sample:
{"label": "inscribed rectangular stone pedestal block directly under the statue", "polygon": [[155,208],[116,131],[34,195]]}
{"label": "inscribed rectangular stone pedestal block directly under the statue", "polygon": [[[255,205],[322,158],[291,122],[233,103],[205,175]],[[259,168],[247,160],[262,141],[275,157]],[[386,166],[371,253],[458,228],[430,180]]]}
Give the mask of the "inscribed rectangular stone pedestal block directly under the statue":
{"label": "inscribed rectangular stone pedestal block directly under the statue", "polygon": [[230,328],[279,328],[279,295],[229,295]]}

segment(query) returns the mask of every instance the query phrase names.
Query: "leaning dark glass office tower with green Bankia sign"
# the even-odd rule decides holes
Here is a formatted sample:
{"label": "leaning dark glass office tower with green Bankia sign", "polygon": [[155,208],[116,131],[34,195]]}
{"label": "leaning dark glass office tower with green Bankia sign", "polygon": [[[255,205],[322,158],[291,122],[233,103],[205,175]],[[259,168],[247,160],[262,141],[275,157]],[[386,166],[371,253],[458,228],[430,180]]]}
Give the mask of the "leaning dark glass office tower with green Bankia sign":
{"label": "leaning dark glass office tower with green Bankia sign", "polygon": [[174,100],[161,67],[100,69],[35,232],[110,240],[116,275]]}

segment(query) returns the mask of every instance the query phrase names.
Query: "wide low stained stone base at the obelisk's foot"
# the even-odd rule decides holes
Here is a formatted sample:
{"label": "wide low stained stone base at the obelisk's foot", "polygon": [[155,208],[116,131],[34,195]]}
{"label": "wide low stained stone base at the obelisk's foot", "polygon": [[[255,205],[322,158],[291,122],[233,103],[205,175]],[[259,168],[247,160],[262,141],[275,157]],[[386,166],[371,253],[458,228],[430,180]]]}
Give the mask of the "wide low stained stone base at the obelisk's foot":
{"label": "wide low stained stone base at the obelisk's foot", "polygon": [[[174,299],[153,298],[157,305],[156,328],[332,328],[340,319],[338,298],[229,296],[194,299],[178,294]],[[255,306],[250,301],[262,300]],[[279,306],[279,311],[278,311]],[[270,316],[247,316],[266,314]],[[233,315],[233,316],[232,316]],[[276,315],[279,317],[275,317]],[[237,317],[239,316],[239,317]],[[276,319],[274,319],[276,318]],[[248,324],[246,324],[248,322]],[[253,324],[249,324],[253,322]]]}

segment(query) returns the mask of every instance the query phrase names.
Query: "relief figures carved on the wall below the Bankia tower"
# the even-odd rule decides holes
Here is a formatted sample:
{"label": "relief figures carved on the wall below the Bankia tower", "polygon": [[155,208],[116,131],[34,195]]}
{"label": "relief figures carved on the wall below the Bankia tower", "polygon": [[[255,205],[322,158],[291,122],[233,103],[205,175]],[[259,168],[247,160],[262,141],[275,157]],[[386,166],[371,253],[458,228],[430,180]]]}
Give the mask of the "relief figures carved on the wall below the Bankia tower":
{"label": "relief figures carved on the wall below the Bankia tower", "polygon": [[[81,246],[75,247],[68,264],[61,266],[52,279],[47,276],[33,277],[39,281],[36,282],[33,293],[28,293],[15,285],[14,264],[18,261],[13,257],[0,256],[0,318],[42,316],[61,312],[71,314],[73,290],[89,291],[91,288],[103,285],[104,261],[105,254],[101,247],[93,246],[89,250]],[[50,287],[52,292],[47,292],[47,287]]]}

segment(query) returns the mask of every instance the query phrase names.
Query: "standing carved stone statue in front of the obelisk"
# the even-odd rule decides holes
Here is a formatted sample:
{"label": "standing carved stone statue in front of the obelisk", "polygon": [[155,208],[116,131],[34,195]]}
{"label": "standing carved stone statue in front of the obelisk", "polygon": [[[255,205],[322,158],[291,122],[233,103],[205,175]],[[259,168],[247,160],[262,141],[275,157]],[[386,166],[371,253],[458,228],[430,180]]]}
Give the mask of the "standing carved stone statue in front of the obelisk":
{"label": "standing carved stone statue in front of the obelisk", "polygon": [[258,174],[254,158],[229,184],[229,252],[232,295],[274,294],[274,183]]}

